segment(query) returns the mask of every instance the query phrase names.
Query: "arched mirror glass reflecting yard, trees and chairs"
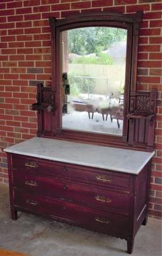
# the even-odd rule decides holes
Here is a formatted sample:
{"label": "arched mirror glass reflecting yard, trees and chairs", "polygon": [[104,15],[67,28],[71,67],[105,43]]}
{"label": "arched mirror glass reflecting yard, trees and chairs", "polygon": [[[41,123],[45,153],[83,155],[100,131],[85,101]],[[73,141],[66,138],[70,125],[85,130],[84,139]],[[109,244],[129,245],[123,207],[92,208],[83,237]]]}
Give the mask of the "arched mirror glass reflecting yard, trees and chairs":
{"label": "arched mirror glass reflecting yard, trees and chairs", "polygon": [[127,30],[61,32],[62,127],[122,136]]}

